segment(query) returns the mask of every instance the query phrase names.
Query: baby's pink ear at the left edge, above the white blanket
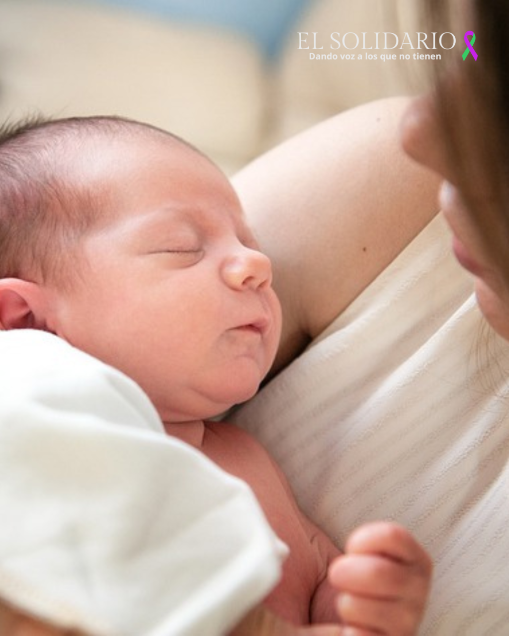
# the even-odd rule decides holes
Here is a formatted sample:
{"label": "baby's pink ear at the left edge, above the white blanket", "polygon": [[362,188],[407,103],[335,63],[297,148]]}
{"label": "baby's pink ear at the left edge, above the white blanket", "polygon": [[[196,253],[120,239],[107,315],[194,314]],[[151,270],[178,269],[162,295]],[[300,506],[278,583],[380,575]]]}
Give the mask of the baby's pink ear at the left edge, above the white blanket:
{"label": "baby's pink ear at the left edge, above the white blanket", "polygon": [[0,329],[45,329],[43,290],[35,282],[0,279]]}

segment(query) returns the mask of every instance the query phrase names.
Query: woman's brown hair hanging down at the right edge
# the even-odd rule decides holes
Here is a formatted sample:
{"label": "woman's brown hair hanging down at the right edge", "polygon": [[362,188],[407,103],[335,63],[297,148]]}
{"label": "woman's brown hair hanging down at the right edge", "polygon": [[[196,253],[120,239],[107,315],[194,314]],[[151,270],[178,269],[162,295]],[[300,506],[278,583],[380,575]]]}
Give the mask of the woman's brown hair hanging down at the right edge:
{"label": "woman's brown hair hanging down at the right edge", "polygon": [[[428,28],[453,32],[459,43],[454,59],[435,69],[439,130],[455,185],[509,289],[509,4],[423,0],[421,6]],[[477,60],[460,53],[467,31],[475,33]]]}

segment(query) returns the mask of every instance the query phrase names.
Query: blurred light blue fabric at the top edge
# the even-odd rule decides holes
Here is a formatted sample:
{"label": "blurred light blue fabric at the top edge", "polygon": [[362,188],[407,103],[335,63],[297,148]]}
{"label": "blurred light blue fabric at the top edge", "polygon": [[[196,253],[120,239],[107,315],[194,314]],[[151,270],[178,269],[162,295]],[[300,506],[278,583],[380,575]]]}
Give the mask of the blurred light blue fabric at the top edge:
{"label": "blurred light blue fabric at the top edge", "polygon": [[216,25],[258,45],[267,57],[279,52],[284,38],[310,0],[81,0],[116,4],[165,18]]}

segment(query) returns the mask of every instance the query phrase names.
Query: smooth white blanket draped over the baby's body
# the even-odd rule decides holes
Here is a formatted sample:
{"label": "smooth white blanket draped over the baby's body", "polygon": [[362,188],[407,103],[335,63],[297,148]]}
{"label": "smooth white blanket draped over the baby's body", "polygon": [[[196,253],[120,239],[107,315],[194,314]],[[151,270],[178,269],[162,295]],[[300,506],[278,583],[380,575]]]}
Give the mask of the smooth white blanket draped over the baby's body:
{"label": "smooth white blanket draped over the baby's body", "polygon": [[59,626],[220,635],[279,576],[249,488],[56,336],[0,332],[0,483],[0,597]]}

